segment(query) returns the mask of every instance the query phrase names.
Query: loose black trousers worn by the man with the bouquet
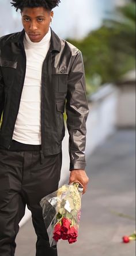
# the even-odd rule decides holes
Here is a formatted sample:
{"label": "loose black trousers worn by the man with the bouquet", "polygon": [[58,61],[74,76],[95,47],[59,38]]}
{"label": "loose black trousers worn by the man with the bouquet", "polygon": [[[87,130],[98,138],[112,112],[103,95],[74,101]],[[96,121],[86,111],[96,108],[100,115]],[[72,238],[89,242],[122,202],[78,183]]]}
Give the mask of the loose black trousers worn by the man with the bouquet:
{"label": "loose black trousers worn by the man with the bouquet", "polygon": [[0,256],[14,256],[18,223],[25,206],[32,213],[37,235],[36,256],[57,256],[48,235],[39,204],[43,196],[58,189],[62,153],[46,157],[41,164],[40,151],[0,149]]}

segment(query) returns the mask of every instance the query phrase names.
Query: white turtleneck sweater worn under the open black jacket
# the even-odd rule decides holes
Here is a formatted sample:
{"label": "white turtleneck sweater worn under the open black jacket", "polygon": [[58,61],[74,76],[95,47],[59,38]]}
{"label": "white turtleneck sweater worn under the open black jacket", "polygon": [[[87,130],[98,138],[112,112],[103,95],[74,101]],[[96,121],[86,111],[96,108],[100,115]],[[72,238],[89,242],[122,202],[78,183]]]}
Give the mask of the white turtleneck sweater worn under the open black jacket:
{"label": "white turtleneck sweater worn under the open black jacket", "polygon": [[41,144],[41,69],[50,47],[51,29],[33,43],[24,36],[27,67],[13,139],[24,144]]}

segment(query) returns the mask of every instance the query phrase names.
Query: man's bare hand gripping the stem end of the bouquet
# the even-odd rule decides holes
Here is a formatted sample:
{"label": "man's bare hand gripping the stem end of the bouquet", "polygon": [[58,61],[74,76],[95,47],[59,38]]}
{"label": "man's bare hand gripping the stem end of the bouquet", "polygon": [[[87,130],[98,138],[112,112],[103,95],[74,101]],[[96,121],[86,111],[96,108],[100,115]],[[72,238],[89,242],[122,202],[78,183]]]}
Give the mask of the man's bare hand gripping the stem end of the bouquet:
{"label": "man's bare hand gripping the stem end of the bouquet", "polygon": [[89,178],[86,175],[85,170],[71,170],[70,171],[70,179],[69,179],[69,184],[73,182],[78,182],[82,185],[83,187],[83,193],[86,192],[87,189],[87,184],[88,184]]}

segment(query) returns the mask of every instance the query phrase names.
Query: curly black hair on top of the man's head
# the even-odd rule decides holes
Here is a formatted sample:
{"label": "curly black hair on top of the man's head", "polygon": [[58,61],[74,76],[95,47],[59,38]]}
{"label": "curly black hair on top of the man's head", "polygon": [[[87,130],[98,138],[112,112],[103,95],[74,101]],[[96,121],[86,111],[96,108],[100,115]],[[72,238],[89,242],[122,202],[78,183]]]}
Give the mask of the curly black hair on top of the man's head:
{"label": "curly black hair on top of the man's head", "polygon": [[12,6],[16,8],[16,11],[20,9],[22,11],[23,8],[35,8],[35,7],[43,7],[47,10],[52,10],[56,6],[59,5],[60,0],[13,0]]}

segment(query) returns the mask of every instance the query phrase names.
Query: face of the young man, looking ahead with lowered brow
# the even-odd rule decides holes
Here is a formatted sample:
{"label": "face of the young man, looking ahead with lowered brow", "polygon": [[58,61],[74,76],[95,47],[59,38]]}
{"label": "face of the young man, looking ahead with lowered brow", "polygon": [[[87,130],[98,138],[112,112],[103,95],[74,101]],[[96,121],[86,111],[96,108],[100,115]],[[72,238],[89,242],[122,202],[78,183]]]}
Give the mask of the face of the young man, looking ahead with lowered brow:
{"label": "face of the young man, looking ahead with lowered brow", "polygon": [[22,25],[33,43],[40,42],[47,34],[53,12],[43,7],[24,8],[21,12]]}

